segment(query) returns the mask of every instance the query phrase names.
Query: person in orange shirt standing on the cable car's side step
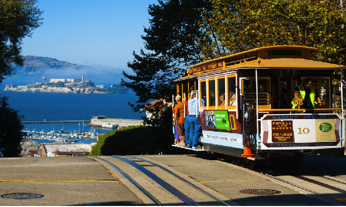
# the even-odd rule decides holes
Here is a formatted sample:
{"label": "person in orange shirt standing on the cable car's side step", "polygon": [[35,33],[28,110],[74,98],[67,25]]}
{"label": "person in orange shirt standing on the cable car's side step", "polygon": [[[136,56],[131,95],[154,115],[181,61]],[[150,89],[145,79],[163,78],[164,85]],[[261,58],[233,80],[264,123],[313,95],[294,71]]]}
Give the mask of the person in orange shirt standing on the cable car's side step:
{"label": "person in orange shirt standing on the cable car's side step", "polygon": [[181,102],[181,96],[176,96],[175,100],[178,102],[174,108],[174,126],[178,126],[178,131],[181,136],[179,146],[185,146],[185,129],[184,129],[184,104]]}

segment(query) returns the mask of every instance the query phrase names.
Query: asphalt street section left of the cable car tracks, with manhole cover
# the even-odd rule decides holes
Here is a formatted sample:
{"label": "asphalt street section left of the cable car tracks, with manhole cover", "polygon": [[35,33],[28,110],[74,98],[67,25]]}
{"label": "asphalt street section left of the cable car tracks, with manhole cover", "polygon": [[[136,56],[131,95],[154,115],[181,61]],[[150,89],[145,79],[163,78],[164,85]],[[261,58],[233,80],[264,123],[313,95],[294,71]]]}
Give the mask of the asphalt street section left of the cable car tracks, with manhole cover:
{"label": "asphalt street section left of the cable car tracks, with manhole cover", "polygon": [[1,195],[44,195],[32,199],[0,197],[2,206],[143,205],[104,166],[88,157],[1,158],[0,180]]}

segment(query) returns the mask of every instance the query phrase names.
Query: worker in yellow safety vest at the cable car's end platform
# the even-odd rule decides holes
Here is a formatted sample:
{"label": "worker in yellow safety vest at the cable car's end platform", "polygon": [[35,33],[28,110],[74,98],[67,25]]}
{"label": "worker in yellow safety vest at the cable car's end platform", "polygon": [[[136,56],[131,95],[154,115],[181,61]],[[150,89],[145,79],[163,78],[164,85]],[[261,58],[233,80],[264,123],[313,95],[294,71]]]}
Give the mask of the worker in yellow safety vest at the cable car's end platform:
{"label": "worker in yellow safety vest at the cable car's end platform", "polygon": [[303,103],[301,108],[305,109],[314,108],[316,104],[322,105],[321,98],[316,94],[316,88],[313,87],[311,78],[306,78],[304,84],[300,84],[295,88],[294,98],[291,103],[293,109],[298,108],[300,103]]}

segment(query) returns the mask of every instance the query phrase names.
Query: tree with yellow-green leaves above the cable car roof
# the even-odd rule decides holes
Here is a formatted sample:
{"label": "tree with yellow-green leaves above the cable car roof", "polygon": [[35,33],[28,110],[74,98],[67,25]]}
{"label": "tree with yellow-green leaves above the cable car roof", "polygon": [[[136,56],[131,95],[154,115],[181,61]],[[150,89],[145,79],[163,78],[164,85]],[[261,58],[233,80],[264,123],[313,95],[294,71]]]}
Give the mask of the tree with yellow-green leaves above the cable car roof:
{"label": "tree with yellow-green leaves above the cable car roof", "polygon": [[269,45],[304,45],[321,50],[315,60],[345,63],[345,17],[336,0],[211,0],[201,25],[203,58]]}

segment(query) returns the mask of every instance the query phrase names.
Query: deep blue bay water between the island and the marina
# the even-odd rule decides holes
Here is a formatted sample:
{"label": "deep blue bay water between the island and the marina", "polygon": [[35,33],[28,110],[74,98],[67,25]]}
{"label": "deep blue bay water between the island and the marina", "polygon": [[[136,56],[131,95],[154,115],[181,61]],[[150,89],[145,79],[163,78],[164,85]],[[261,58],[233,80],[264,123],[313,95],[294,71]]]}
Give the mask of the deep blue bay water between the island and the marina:
{"label": "deep blue bay water between the island and the marina", "polygon": [[[92,116],[105,115],[112,119],[142,120],[143,112],[133,112],[128,102],[134,103],[137,97],[128,94],[63,94],[63,93],[22,93],[0,92],[8,97],[11,108],[23,115],[23,122],[30,121],[90,121]],[[86,123],[65,124],[25,124],[23,130],[49,132],[64,129],[76,133],[95,131],[98,134],[115,129],[89,127]],[[36,140],[37,141],[37,140]],[[85,140],[88,142],[88,140]],[[80,142],[85,142],[80,141]],[[47,142],[45,140],[45,142]]]}

